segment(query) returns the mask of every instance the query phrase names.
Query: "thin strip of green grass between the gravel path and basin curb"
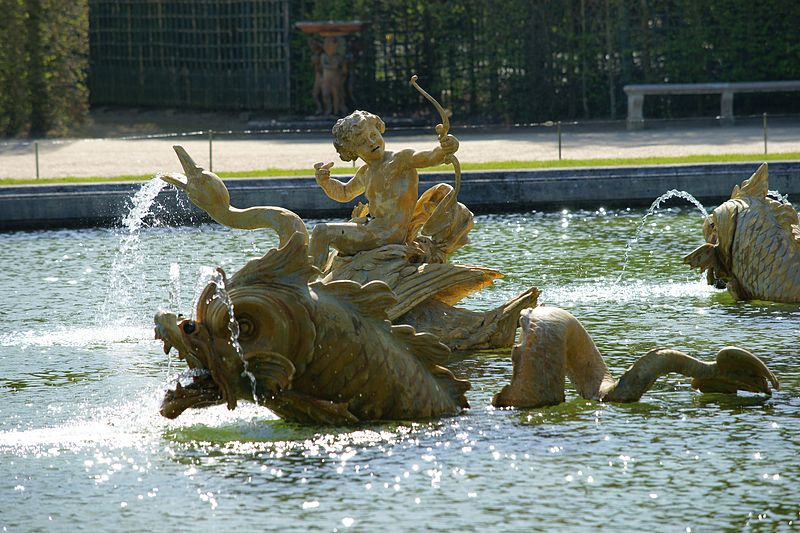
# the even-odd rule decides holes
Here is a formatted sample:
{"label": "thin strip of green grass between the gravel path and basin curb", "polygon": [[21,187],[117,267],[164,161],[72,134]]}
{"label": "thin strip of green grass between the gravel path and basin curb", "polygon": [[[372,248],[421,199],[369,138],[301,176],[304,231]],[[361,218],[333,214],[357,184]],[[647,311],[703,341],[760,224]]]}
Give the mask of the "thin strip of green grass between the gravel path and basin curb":
{"label": "thin strip of green grass between the gravel path and basin curb", "polygon": [[[525,170],[545,168],[578,168],[578,167],[618,167],[638,165],[680,165],[692,163],[743,163],[761,161],[798,161],[800,152],[784,152],[777,154],[723,154],[723,155],[689,155],[680,157],[635,157],[613,159],[562,159],[550,161],[491,161],[488,163],[462,163],[462,170]],[[442,165],[423,170],[422,172],[446,171],[449,167]],[[347,167],[334,167],[332,174],[352,175],[353,169]],[[241,172],[219,172],[222,178],[273,178],[286,176],[311,177],[313,174],[308,169],[267,168],[261,170],[246,170]],[[140,176],[113,176],[113,177],[64,177],[42,179],[0,179],[3,185],[30,185],[48,183],[97,183],[114,181],[146,181],[153,174]]]}

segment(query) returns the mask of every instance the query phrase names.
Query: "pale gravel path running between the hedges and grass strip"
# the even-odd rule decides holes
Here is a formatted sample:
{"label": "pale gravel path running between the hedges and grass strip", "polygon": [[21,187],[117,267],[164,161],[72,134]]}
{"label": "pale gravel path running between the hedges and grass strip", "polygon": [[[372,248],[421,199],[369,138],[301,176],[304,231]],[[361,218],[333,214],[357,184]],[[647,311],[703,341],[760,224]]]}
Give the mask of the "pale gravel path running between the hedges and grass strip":
{"label": "pale gravel path running between the hedges and grass strip", "polygon": [[[555,129],[516,130],[503,133],[458,134],[462,163],[504,160],[558,159]],[[435,134],[387,135],[387,148],[427,149],[435,146]],[[171,147],[183,145],[200,165],[208,164],[205,137],[159,139],[75,139],[39,142],[39,175],[119,176],[179,171]],[[643,131],[570,131],[562,138],[564,159],[610,157],[681,156],[691,154],[748,153],[764,151],[760,126],[737,125],[652,129]],[[785,120],[769,129],[769,151],[800,152],[800,121]],[[341,161],[330,137],[324,135],[276,135],[251,139],[217,136],[213,142],[216,170],[247,171],[264,168],[312,169],[317,161]],[[309,170],[309,175],[312,171]],[[34,147],[30,141],[0,141],[0,179],[36,176]]]}

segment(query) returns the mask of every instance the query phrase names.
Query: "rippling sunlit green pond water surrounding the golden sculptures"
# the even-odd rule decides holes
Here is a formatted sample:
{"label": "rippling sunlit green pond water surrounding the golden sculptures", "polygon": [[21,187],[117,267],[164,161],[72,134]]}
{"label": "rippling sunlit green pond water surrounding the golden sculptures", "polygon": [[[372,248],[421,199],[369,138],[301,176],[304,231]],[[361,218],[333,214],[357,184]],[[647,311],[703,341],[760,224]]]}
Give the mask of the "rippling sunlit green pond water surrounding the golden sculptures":
{"label": "rippling sunlit green pond water surrounding the golden sculptures", "polygon": [[[476,217],[455,261],[535,285],[587,327],[615,375],[656,346],[737,344],[781,380],[772,398],[702,395],[671,375],[640,402],[494,410],[506,352],[459,358],[470,410],[424,423],[300,427],[240,404],[158,414],[184,365],[153,340],[191,312],[203,267],[229,273],[270,232],[158,224],[0,235],[3,531],[719,531],[800,520],[800,306],[735,303],[681,257],[691,206]],[[313,223],[313,222],[312,222]]]}

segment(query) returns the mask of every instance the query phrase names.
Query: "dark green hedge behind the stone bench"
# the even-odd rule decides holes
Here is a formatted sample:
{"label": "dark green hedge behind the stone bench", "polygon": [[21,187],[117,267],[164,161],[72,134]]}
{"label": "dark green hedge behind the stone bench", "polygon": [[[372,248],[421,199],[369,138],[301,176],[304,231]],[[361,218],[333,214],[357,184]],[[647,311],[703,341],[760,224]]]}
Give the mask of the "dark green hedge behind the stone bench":
{"label": "dark green hedge behind the stone bench", "polygon": [[[317,0],[318,19],[371,21],[363,105],[421,104],[413,72],[462,116],[619,118],[631,83],[800,79],[800,2],[785,0]],[[718,97],[648,99],[686,116]],[[737,113],[800,111],[797,95],[737,96]],[[359,105],[362,105],[359,103]]]}

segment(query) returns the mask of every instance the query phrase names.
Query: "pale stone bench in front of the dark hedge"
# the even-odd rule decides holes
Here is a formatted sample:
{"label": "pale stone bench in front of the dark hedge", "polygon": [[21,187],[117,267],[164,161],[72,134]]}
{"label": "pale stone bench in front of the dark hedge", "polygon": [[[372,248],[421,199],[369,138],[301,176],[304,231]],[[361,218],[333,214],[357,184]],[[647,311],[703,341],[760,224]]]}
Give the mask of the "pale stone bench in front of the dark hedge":
{"label": "pale stone bench in front of the dark hedge", "polygon": [[644,126],[644,97],[647,95],[672,94],[719,94],[722,96],[719,117],[723,124],[733,123],[734,93],[761,93],[800,91],[800,80],[792,81],[744,81],[733,83],[653,83],[626,85],[622,88],[628,95],[628,129]]}

